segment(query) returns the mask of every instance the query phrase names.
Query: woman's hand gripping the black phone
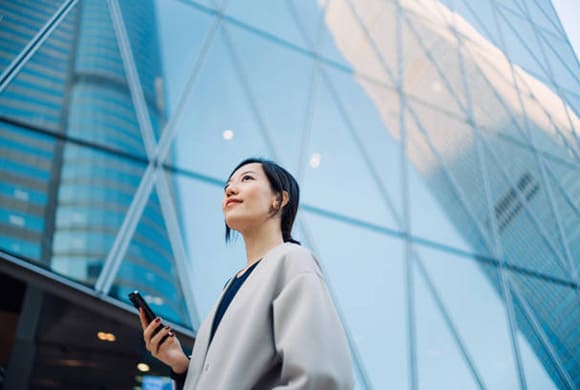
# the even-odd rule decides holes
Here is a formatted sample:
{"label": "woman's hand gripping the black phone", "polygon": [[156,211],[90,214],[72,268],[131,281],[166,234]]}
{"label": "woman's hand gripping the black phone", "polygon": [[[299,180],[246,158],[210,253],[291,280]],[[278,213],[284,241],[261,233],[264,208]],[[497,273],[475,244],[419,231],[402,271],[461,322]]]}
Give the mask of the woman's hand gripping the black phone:
{"label": "woman's hand gripping the black phone", "polygon": [[175,337],[175,333],[169,326],[165,326],[155,335],[155,329],[161,324],[161,319],[157,317],[151,323],[147,322],[143,309],[139,309],[139,319],[143,327],[143,339],[145,348],[154,358],[167,364],[176,374],[187,371],[189,359],[181,349],[181,343]]}

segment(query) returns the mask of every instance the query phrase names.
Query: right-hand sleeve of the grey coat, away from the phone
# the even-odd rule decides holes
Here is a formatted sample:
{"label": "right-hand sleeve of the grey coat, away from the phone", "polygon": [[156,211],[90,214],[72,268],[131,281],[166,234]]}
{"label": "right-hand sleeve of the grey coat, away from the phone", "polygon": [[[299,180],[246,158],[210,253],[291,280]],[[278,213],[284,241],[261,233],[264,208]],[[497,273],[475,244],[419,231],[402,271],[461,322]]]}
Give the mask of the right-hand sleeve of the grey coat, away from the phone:
{"label": "right-hand sleeve of the grey coat, away from the phone", "polygon": [[322,278],[295,276],[273,302],[274,343],[281,358],[276,389],[352,389],[348,341]]}

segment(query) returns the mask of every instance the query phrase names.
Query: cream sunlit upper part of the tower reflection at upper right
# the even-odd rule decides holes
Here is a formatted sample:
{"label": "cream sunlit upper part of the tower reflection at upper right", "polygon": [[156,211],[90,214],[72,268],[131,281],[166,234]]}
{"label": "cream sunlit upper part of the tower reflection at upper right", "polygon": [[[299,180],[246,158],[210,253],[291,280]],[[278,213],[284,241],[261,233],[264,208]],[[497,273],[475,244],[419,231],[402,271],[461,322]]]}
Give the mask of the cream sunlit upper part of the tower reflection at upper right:
{"label": "cream sunlit upper part of the tower reflection at upper right", "polygon": [[[432,0],[400,2],[404,16],[400,23],[402,61],[399,61],[396,5],[379,0],[358,1],[353,5],[355,15],[349,6],[352,3],[332,1],[325,21],[335,45],[352,64],[357,81],[395,139],[400,139],[400,102],[394,86],[396,80],[389,78],[384,65],[396,78],[401,63],[405,94],[433,108],[423,107],[411,99],[408,104],[427,128],[434,147],[449,159],[473,147],[466,115],[470,105],[466,88],[475,124],[488,133],[516,132],[513,127],[505,126],[511,121],[509,110],[515,118],[527,116],[537,137],[549,135],[554,141],[555,153],[561,154],[555,144],[558,131],[567,142],[575,144],[574,128],[580,128],[580,121],[561,98],[517,65],[512,76],[512,67],[503,52],[444,4]],[[370,42],[360,22],[368,31]],[[455,31],[461,40],[459,43]],[[369,77],[374,82],[369,82]],[[383,85],[377,86],[377,81]],[[543,134],[539,134],[539,129]],[[412,145],[409,158],[421,172],[430,172],[439,163],[410,117],[407,131]]]}

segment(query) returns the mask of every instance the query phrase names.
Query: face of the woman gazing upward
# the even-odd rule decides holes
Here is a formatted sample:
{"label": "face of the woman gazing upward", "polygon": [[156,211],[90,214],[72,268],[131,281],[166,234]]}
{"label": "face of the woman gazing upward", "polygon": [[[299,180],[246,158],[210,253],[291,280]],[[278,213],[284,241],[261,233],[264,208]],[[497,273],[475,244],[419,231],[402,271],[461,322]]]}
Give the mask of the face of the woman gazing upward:
{"label": "face of the woman gazing upward", "polygon": [[227,225],[243,233],[271,218],[276,201],[262,164],[251,163],[238,168],[226,183],[222,210]]}

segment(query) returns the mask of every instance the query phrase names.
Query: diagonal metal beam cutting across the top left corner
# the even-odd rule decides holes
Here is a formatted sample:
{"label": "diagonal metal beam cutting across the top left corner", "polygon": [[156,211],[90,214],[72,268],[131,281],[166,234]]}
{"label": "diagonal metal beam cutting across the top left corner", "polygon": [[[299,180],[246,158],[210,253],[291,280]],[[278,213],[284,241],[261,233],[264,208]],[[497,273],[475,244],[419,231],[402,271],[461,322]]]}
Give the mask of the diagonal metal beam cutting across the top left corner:
{"label": "diagonal metal beam cutting across the top left corner", "polygon": [[54,15],[46,22],[40,31],[28,42],[20,51],[18,56],[6,67],[0,75],[0,94],[6,89],[8,84],[18,74],[20,69],[30,60],[38,51],[40,46],[48,39],[52,31],[57,28],[62,20],[68,15],[70,10],[76,5],[78,0],[68,0],[64,2]]}

